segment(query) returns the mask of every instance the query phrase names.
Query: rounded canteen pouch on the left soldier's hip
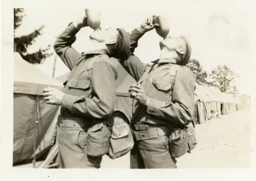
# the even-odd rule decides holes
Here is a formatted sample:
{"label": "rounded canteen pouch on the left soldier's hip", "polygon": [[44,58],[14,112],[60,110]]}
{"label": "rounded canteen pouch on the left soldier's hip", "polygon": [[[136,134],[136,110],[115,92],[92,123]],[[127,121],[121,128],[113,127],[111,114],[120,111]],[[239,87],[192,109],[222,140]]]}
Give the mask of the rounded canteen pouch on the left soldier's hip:
{"label": "rounded canteen pouch on the left soldier's hip", "polygon": [[87,132],[87,154],[99,157],[108,153],[110,136],[106,122],[95,123]]}

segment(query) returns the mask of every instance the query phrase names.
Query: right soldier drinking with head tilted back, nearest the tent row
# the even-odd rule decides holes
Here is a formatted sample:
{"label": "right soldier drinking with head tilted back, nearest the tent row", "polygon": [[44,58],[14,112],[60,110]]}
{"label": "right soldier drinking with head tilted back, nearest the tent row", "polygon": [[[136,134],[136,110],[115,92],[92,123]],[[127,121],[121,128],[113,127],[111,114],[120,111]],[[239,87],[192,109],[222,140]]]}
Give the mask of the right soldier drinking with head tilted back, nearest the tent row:
{"label": "right soldier drinking with head tilted back, nearest the tent row", "polygon": [[189,61],[191,47],[184,36],[164,38],[159,59],[145,65],[132,52],[141,36],[155,28],[152,21],[150,17],[132,31],[131,56],[120,60],[138,81],[129,89],[134,97],[131,168],[177,168],[169,136],[173,128],[183,129],[193,119],[195,79],[182,66]]}

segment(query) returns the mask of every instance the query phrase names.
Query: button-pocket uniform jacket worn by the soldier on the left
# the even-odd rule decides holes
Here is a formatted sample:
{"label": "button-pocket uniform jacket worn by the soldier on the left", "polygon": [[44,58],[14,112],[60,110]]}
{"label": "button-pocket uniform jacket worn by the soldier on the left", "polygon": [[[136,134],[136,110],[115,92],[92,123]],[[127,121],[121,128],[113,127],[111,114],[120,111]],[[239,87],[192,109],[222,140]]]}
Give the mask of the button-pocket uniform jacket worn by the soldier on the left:
{"label": "button-pocket uniform jacket worn by the soldier on the left", "polygon": [[64,83],[61,116],[107,118],[115,104],[116,70],[107,52],[81,53],[72,48],[78,31],[71,23],[54,43],[54,50],[71,70]]}

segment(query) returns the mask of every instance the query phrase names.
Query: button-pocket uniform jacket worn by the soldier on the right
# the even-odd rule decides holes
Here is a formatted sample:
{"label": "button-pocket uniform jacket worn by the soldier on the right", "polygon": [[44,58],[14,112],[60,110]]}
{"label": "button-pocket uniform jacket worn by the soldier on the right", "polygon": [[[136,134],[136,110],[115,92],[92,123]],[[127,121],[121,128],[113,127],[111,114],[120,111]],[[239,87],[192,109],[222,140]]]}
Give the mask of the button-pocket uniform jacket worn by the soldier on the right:
{"label": "button-pocket uniform jacket worn by the soldier on the right", "polygon": [[132,122],[157,125],[186,125],[193,119],[195,78],[187,67],[176,64],[175,59],[158,59],[146,65],[132,52],[138,45],[140,31],[130,34],[131,56],[123,61],[127,72],[140,82],[150,101],[141,106],[135,99]]}

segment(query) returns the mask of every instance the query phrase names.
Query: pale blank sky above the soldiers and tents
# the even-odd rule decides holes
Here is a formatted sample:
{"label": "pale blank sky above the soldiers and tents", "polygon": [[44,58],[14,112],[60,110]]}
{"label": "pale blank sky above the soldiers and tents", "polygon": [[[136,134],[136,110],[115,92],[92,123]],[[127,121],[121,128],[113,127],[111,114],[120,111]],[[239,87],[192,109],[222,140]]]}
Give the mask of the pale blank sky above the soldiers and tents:
{"label": "pale blank sky above the soldiers and tents", "polygon": [[[166,1],[168,2],[168,1]],[[99,9],[102,28],[124,28],[131,32],[138,28],[149,15],[164,15],[170,26],[170,36],[184,35],[192,47],[191,58],[200,61],[207,72],[218,65],[227,65],[239,74],[234,81],[241,93],[251,93],[255,69],[253,59],[253,7],[239,4],[241,1],[172,1],[154,8],[108,8]],[[246,1],[244,1],[246,2]],[[150,7],[150,8],[148,8]],[[36,39],[29,52],[54,43],[67,25],[83,17],[84,8],[25,8],[26,16],[17,35],[26,35],[44,24],[43,35]],[[88,36],[92,29],[83,28],[77,33],[73,47],[77,51],[89,49]],[[139,41],[135,51],[141,61],[154,61],[159,58],[159,40],[155,30],[146,33]],[[51,49],[52,52],[53,49]],[[54,56],[36,65],[43,72],[51,75]],[[55,77],[68,72],[68,68],[57,58]]]}

